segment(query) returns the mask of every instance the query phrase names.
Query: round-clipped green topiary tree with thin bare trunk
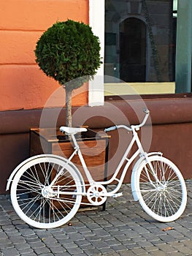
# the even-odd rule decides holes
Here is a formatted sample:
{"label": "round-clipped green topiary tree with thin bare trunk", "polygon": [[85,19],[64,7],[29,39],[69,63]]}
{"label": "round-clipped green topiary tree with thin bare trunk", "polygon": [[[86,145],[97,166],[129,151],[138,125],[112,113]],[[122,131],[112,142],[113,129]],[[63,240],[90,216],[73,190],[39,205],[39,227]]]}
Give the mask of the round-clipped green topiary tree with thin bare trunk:
{"label": "round-clipped green topiary tree with thin bare trunk", "polygon": [[101,65],[99,37],[85,23],[53,24],[37,41],[36,62],[66,90],[66,126],[72,127],[72,91],[93,78]]}

